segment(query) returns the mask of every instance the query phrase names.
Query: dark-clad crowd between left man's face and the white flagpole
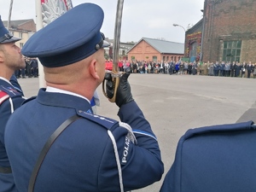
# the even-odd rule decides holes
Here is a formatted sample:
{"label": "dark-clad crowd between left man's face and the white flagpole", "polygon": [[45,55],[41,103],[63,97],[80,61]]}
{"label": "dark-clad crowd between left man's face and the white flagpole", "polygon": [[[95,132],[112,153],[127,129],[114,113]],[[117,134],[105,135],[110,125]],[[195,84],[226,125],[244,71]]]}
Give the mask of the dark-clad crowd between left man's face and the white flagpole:
{"label": "dark-clad crowd between left man's face and the white flagpole", "polygon": [[38,78],[38,59],[25,57],[26,67],[20,68],[15,71],[15,76],[17,79],[26,79],[28,78]]}

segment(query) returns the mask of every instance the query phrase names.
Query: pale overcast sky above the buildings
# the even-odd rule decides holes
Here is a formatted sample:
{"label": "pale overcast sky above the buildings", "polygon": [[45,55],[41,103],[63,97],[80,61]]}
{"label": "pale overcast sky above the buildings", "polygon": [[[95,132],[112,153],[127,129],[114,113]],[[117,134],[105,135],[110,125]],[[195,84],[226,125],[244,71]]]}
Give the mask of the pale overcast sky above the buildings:
{"label": "pale overcast sky above the buildings", "polygon": [[[35,0],[14,0],[11,20],[33,19],[36,22]],[[96,3],[102,7],[105,19],[102,32],[113,38],[117,0],[73,0]],[[121,42],[137,42],[141,38],[159,38],[177,43],[184,42],[184,30],[202,18],[204,0],[125,0],[122,17]],[[10,0],[0,0],[2,20],[8,20]],[[180,26],[172,26],[172,24]]]}

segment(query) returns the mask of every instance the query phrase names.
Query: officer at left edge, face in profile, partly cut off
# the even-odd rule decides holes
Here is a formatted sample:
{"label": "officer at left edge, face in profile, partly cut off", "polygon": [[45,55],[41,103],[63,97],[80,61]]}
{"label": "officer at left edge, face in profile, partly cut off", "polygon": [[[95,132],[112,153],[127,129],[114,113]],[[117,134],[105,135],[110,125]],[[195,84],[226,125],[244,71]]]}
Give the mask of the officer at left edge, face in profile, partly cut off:
{"label": "officer at left edge, face in profile, partly cut off", "polygon": [[17,191],[3,136],[9,116],[25,100],[15,77],[15,70],[25,67],[20,48],[15,45],[19,40],[3,26],[0,16],[0,192]]}

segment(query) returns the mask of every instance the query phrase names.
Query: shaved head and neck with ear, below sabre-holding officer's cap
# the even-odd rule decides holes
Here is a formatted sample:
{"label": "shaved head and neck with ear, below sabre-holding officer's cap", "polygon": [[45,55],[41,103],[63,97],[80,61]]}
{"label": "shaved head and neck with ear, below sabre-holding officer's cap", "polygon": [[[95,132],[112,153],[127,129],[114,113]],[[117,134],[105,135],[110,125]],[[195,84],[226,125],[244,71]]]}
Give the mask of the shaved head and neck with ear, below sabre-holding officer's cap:
{"label": "shaved head and neck with ear, below sabre-holding officer's cap", "polygon": [[[84,60],[63,67],[44,67],[44,79],[48,86],[62,90],[93,95],[105,74],[104,51],[100,49]],[[86,96],[90,98],[90,96]]]}

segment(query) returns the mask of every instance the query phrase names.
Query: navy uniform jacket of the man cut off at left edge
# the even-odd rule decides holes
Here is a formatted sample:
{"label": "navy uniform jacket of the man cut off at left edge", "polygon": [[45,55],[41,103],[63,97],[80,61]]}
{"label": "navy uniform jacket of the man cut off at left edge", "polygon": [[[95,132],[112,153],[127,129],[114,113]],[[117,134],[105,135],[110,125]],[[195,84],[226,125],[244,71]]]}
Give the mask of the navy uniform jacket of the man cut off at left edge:
{"label": "navy uniform jacket of the man cut off at left edge", "polygon": [[[9,159],[6,154],[4,146],[4,131],[5,125],[11,113],[19,108],[21,103],[25,100],[23,93],[20,92],[20,84],[17,79],[11,79],[9,82],[0,79],[0,192],[15,192],[14,177],[10,171]],[[19,87],[15,88],[15,87]],[[18,89],[18,90],[16,90]],[[12,140],[15,142],[15,140]]]}

